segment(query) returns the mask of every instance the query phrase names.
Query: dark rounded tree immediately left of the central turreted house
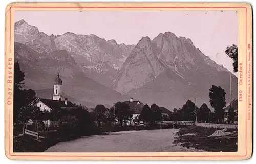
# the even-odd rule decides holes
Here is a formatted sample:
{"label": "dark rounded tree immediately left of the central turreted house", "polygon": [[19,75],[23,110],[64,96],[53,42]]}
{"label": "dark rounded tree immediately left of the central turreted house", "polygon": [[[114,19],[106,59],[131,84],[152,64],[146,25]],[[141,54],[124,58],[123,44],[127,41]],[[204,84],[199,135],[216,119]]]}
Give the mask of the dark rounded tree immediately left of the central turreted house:
{"label": "dark rounded tree immediately left of the central turreted house", "polygon": [[120,125],[123,125],[123,121],[131,120],[133,112],[130,109],[130,106],[125,102],[117,102],[114,104],[116,110],[116,117],[118,118]]}

